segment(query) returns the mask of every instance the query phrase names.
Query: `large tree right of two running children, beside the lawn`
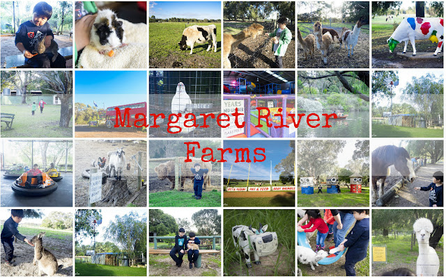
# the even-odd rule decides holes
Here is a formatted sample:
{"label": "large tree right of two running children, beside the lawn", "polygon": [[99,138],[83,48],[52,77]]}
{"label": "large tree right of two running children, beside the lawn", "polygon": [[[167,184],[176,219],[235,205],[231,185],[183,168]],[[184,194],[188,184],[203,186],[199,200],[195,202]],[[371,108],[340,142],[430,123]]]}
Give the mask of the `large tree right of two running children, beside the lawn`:
{"label": "large tree right of two running children, beside the lawn", "polygon": [[72,117],[72,72],[45,71],[38,72],[40,79],[49,85],[49,89],[61,100],[60,127],[68,127]]}

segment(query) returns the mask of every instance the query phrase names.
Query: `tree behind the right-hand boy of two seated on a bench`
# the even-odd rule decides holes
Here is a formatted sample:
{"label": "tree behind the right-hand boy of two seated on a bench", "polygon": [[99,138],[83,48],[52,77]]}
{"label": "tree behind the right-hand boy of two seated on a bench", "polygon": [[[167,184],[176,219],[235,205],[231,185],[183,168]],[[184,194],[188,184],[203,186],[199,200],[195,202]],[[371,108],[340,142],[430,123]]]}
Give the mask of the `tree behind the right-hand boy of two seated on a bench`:
{"label": "tree behind the right-hand boy of two seated on a bench", "polygon": [[198,233],[203,236],[221,234],[222,216],[216,209],[202,209],[192,214],[192,222],[197,227]]}

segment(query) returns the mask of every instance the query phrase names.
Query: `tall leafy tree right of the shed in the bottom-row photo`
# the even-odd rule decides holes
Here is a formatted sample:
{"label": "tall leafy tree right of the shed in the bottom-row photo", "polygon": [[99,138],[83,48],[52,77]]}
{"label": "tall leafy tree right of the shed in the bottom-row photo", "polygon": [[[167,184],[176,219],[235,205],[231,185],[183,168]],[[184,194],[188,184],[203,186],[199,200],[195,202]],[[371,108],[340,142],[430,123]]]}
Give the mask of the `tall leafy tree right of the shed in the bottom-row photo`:
{"label": "tall leafy tree right of the shed in the bottom-row photo", "polygon": [[147,218],[133,211],[123,216],[115,216],[110,222],[105,237],[122,248],[131,258],[147,252]]}

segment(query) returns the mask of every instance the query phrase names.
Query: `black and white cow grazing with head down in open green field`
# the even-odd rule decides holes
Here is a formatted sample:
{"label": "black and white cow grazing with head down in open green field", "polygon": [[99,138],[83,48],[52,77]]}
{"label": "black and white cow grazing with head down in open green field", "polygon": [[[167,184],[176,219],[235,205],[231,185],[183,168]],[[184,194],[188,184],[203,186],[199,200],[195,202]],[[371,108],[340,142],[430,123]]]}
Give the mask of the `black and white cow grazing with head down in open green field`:
{"label": "black and white cow grazing with head down in open green field", "polygon": [[193,25],[184,29],[183,37],[181,37],[180,45],[181,50],[186,50],[190,47],[190,54],[194,49],[195,42],[203,44],[209,42],[208,50],[214,46],[214,52],[217,52],[217,26],[214,24],[207,26]]}

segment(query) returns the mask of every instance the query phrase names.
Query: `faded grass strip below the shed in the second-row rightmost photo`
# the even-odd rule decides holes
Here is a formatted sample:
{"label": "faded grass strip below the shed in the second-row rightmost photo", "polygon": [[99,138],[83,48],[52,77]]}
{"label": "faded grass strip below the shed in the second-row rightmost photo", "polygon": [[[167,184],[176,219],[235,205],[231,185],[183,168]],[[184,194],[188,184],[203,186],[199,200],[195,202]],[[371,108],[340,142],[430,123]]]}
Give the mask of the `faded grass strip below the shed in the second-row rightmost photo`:
{"label": "faded grass strip below the shed in the second-row rightmost photo", "polygon": [[406,126],[389,126],[385,124],[372,124],[373,137],[406,137],[406,138],[440,138],[443,137],[443,129],[422,129]]}

